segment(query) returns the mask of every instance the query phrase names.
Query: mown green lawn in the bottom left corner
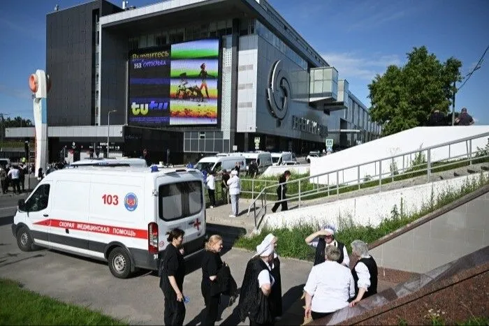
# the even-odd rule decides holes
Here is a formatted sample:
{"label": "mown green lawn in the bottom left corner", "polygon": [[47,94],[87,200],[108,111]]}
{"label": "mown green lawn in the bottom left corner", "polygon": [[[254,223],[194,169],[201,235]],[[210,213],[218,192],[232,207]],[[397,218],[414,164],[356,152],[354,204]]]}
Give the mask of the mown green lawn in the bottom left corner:
{"label": "mown green lawn in the bottom left corner", "polygon": [[98,311],[59,302],[0,279],[0,325],[127,325]]}

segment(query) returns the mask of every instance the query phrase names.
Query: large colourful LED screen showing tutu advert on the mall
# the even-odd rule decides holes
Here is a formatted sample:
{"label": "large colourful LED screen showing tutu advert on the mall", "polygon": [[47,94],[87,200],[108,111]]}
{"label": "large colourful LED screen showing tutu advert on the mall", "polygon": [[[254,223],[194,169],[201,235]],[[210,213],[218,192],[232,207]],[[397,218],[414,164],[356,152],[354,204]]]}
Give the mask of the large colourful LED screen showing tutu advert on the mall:
{"label": "large colourful LED screen showing tutu advert on the mall", "polygon": [[195,40],[133,52],[129,59],[129,124],[217,124],[219,40]]}

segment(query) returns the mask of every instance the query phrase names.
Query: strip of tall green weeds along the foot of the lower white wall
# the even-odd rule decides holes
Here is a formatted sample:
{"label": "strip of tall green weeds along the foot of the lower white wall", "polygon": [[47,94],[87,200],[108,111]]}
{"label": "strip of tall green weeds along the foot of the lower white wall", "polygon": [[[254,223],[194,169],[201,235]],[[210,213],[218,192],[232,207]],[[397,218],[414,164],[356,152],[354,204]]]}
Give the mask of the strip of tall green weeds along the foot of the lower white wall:
{"label": "strip of tall green weeds along the foot of the lower white wall", "polygon": [[[419,209],[418,212],[413,212],[411,214],[406,214],[404,202],[401,199],[400,205],[394,205],[392,208],[391,216],[384,218],[377,227],[370,225],[356,225],[351,216],[340,216],[340,225],[337,225],[338,232],[335,235],[335,238],[348,247],[355,239],[362,239],[367,244],[372,243],[487,184],[489,184],[489,177],[486,177],[483,173],[479,175],[479,178],[467,177],[464,184],[458,189],[447,188],[436,196],[432,191],[431,197],[427,202],[423,203],[421,209]],[[319,230],[320,226],[321,225],[317,225],[317,223],[303,222],[291,229],[278,228],[270,230],[268,228],[263,228],[262,233],[267,234],[272,232],[279,238],[278,252],[280,255],[302,260],[313,260],[314,249],[309,247],[304,239],[307,235]],[[235,243],[235,246],[254,251],[262,239],[263,235],[256,235],[253,237],[242,236]]]}

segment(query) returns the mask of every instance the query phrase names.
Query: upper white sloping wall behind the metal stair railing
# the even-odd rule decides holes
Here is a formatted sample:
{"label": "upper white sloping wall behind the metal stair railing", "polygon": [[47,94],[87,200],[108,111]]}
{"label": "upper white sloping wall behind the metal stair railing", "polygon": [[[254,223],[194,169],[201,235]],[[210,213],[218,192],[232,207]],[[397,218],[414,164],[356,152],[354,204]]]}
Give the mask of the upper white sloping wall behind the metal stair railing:
{"label": "upper white sloping wall behind the metal stair railing", "polygon": [[[446,127],[417,127],[407,131],[402,131],[394,135],[390,135],[372,142],[367,142],[362,145],[354,146],[343,151],[337,151],[333,155],[323,156],[320,158],[311,159],[311,175],[319,175],[330,171],[335,171],[340,168],[347,168],[349,166],[367,163],[370,161],[379,160],[381,158],[388,158],[396,154],[403,154],[409,151],[416,151],[417,149],[423,149],[431,147],[444,142],[451,142],[462,138],[467,138],[482,133],[489,133],[489,126],[446,126]],[[476,151],[477,147],[486,147],[488,143],[488,135],[476,140],[472,140],[472,151]],[[455,145],[441,147],[434,149],[431,152],[432,161],[441,159],[453,158],[453,156],[467,155],[468,144],[460,142]],[[425,157],[428,158],[426,151]],[[402,167],[409,168],[411,161],[413,161],[415,155],[407,155],[398,157],[395,159],[397,170],[402,170]],[[382,173],[386,173],[384,177],[388,177],[391,172],[392,161],[384,160],[381,164]],[[360,181],[367,175],[374,176],[379,174],[379,163],[372,163],[370,165],[364,165],[360,167]],[[329,175],[329,179],[328,179]],[[330,185],[337,184],[336,172],[324,175],[319,178],[319,184]],[[339,174],[340,184],[357,184],[358,183],[358,168],[351,168],[344,170]],[[372,179],[378,179],[373,177]],[[311,180],[316,182],[316,178]]]}

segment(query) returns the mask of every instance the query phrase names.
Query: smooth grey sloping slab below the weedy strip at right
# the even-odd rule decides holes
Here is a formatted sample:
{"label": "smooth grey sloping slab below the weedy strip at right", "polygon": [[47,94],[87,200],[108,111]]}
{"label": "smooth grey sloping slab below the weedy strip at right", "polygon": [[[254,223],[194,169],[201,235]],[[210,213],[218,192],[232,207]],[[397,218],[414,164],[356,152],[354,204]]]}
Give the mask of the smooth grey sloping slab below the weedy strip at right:
{"label": "smooth grey sloping slab below the weedy strip at right", "polygon": [[370,250],[379,266],[425,273],[489,245],[489,193]]}

